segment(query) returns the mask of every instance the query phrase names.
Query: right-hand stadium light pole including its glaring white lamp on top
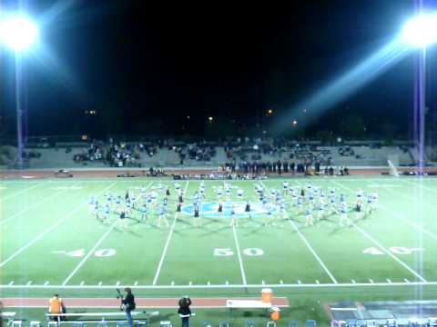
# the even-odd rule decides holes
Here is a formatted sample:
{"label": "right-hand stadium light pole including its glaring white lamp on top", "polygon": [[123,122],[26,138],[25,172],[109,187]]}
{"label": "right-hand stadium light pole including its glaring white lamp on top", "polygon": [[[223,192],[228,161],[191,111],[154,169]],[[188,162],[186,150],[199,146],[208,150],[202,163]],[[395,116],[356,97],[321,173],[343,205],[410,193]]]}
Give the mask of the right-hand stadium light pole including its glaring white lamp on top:
{"label": "right-hand stadium light pole including its glaring white lamp on top", "polygon": [[413,17],[402,29],[407,45],[420,50],[417,60],[414,88],[414,139],[419,147],[419,173],[423,173],[425,144],[426,100],[426,49],[437,43],[437,13],[421,13]]}

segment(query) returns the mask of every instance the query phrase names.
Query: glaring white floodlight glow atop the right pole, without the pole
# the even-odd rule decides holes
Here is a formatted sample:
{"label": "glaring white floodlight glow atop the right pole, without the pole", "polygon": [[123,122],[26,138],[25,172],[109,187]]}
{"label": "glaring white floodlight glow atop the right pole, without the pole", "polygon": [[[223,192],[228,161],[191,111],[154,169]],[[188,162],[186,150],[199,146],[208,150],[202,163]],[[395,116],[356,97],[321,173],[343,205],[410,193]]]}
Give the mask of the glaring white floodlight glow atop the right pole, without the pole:
{"label": "glaring white floodlight glow atop the right pole, without the pole", "polygon": [[412,18],[403,26],[402,37],[409,45],[415,47],[437,43],[437,13]]}

